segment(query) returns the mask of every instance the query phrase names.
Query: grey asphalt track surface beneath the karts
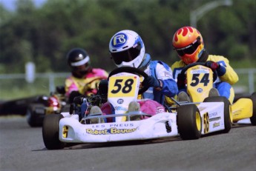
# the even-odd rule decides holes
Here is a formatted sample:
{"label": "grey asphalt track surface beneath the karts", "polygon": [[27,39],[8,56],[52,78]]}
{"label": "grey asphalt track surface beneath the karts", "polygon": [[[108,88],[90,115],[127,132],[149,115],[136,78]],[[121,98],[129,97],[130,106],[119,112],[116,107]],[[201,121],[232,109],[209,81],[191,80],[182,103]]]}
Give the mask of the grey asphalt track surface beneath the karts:
{"label": "grey asphalt track surface beneath the karts", "polygon": [[41,127],[29,127],[20,116],[0,117],[0,145],[1,171],[256,170],[256,127],[251,124],[193,141],[177,137],[47,150]]}

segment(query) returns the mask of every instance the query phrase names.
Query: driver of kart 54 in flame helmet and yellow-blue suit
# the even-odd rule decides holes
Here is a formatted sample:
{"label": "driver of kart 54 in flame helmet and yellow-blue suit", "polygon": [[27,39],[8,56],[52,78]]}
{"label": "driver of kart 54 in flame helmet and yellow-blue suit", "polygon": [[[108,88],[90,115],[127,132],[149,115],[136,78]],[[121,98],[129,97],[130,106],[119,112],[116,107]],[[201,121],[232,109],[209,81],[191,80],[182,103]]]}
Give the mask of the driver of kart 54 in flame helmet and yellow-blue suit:
{"label": "driver of kart 54 in flame helmet and yellow-blue suit", "polygon": [[234,90],[232,84],[238,81],[237,73],[234,72],[229,65],[229,60],[224,56],[209,55],[205,49],[203,36],[196,28],[181,27],[174,33],[172,45],[180,57],[180,61],[171,65],[171,69],[174,71],[173,76],[177,79],[179,88],[178,99],[179,97],[182,98],[179,100],[186,101],[186,99],[189,99],[186,97],[187,94],[184,93],[186,92],[186,78],[179,75],[183,67],[194,62],[206,62],[206,67],[217,71],[217,80],[214,81],[215,88],[210,91],[211,95],[225,96],[231,103],[233,102]]}

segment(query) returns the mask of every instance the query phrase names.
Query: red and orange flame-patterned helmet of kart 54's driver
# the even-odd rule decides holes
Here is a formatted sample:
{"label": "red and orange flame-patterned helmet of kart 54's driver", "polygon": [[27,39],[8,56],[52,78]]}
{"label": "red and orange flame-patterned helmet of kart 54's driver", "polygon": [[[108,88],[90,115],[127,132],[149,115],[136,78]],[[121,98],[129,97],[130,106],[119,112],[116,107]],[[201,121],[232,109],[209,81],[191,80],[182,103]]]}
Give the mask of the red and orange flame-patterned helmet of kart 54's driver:
{"label": "red and orange flame-patterned helmet of kart 54's driver", "polygon": [[182,27],[172,39],[174,50],[185,64],[194,63],[203,53],[203,37],[194,27]]}

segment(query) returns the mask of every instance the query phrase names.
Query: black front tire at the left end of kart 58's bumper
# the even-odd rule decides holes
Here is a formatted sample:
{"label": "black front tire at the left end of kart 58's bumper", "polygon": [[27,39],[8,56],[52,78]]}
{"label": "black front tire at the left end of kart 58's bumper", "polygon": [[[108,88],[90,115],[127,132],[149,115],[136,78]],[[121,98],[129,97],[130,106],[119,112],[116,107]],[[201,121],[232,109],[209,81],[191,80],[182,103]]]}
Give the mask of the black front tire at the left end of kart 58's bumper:
{"label": "black front tire at the left end of kart 58's bumper", "polygon": [[65,143],[59,141],[59,120],[63,118],[60,114],[45,115],[42,126],[42,136],[47,150],[59,150],[65,147]]}

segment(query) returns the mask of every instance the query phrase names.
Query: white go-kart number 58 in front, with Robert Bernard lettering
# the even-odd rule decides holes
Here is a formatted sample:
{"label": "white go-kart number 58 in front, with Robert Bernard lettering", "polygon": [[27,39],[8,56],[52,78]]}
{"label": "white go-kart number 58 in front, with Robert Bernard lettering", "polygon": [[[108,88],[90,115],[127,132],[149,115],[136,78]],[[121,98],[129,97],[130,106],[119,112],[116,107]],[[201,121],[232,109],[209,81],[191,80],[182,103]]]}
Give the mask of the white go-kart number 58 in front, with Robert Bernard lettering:
{"label": "white go-kart number 58 in front, with Robert Bernard lettering", "polygon": [[[128,104],[137,101],[140,93],[148,86],[140,85],[140,76],[148,75],[134,67],[119,67],[108,77],[108,103],[114,113],[108,115],[87,115],[83,103],[89,106],[88,98],[82,104],[74,104],[69,113],[46,115],[42,137],[48,150],[62,149],[68,144],[103,143],[111,141],[137,141],[180,136],[183,140],[197,139],[209,133],[228,133],[231,128],[229,101],[223,97],[208,98],[207,102],[193,104],[173,100],[176,107],[156,115],[142,111],[128,112]],[[87,105],[87,106],[88,106]],[[75,110],[73,110],[75,109]],[[81,118],[80,115],[85,115]],[[147,116],[132,121],[134,115]],[[89,124],[91,119],[98,124]],[[112,122],[101,122],[102,118],[115,118]]]}

